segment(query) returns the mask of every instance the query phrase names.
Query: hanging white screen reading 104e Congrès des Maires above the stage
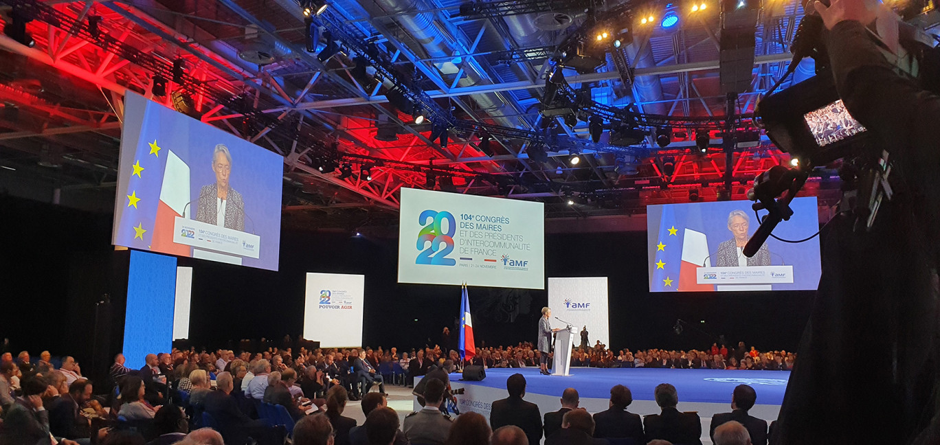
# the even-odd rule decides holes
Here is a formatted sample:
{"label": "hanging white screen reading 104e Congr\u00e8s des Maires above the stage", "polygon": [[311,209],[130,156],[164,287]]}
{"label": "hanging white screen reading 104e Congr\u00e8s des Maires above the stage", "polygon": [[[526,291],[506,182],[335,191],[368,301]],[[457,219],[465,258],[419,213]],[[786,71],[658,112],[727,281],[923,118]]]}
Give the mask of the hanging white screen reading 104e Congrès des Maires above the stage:
{"label": "hanging white screen reading 104e Congr\u00e8s des Maires above the stage", "polygon": [[401,189],[399,283],[545,288],[542,203]]}

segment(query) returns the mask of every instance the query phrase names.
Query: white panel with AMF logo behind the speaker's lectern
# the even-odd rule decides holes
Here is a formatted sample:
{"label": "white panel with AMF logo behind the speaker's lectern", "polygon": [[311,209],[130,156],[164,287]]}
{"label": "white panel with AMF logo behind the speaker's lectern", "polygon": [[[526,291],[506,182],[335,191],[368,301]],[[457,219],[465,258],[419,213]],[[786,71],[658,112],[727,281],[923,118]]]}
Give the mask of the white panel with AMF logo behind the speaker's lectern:
{"label": "white panel with AMF logo behind the speaker's lectern", "polygon": [[607,277],[549,278],[548,307],[552,327],[564,328],[558,317],[574,327],[574,345],[581,345],[581,330],[587,326],[588,346],[598,340],[610,347],[610,319],[607,316]]}

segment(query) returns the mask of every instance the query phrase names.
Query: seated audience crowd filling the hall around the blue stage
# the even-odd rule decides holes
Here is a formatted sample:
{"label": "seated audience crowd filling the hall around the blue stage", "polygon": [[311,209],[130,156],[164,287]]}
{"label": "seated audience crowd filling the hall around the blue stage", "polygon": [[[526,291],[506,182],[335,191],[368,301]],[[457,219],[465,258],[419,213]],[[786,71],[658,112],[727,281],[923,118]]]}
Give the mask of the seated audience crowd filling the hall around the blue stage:
{"label": "seated audience crowd filling the hall around the blue stage", "polygon": [[[44,440],[65,445],[142,444],[145,438],[154,444],[224,440],[227,444],[280,445],[289,436],[295,444],[338,445],[517,444],[539,443],[542,436],[546,444],[640,444],[654,440],[668,441],[657,442],[660,445],[700,443],[697,414],[676,409],[678,395],[668,384],[655,391],[663,412],[642,421],[626,411],[632,396],[622,385],[611,389],[610,408],[606,411],[590,416],[578,408],[577,391],[569,389],[562,395],[561,409],[542,418],[538,407],[523,400],[525,377],[519,374],[509,377],[509,398],[493,404],[489,424],[474,413],[464,413],[455,420],[442,413],[446,408],[440,407],[449,397],[443,369],[459,371],[471,363],[493,368],[534,367],[538,366],[539,356],[540,352],[528,343],[480,347],[476,357],[465,362],[456,351],[445,353],[437,345],[400,354],[396,347],[302,347],[296,354],[290,347],[272,347],[238,355],[231,350],[196,352],[174,348],[168,353],[147,355],[140,369],[126,367],[123,355],[118,354],[107,381],[101,384],[101,393],[108,395],[95,396],[92,394],[97,385],[82,375],[71,357],[56,360],[60,363],[56,369],[48,351],[40,354],[39,361],[31,360],[25,351],[15,360],[7,353],[0,357],[0,445]],[[635,355],[627,349],[615,354],[598,343],[589,349],[577,348],[573,356],[572,365],[603,367],[786,370],[793,362],[793,355],[786,351],[761,353],[753,347],[744,349],[744,343],[731,351],[724,345],[713,345],[709,351],[650,349]],[[739,362],[747,364],[740,368],[731,364]],[[415,388],[425,408],[399,425],[398,416],[391,416],[391,409],[385,407],[384,385],[395,380],[400,385],[414,386],[415,376],[428,376]],[[370,392],[373,387],[378,392]],[[729,437],[749,437],[746,443],[765,444],[766,422],[747,415],[755,398],[749,387],[738,387],[731,405],[734,411],[713,418],[713,437],[724,434],[718,428],[722,423],[737,422],[744,425],[746,434],[735,430],[737,433],[732,431]],[[367,422],[361,427],[342,415],[350,400],[362,400]],[[285,417],[278,419],[269,407],[283,408]],[[385,441],[387,435],[373,435],[369,426],[390,428],[392,423],[395,433]],[[193,432],[187,435],[190,430]],[[221,437],[213,436],[212,430]],[[218,442],[213,442],[216,438]],[[629,440],[603,440],[610,438]],[[715,443],[739,442],[715,438]]]}

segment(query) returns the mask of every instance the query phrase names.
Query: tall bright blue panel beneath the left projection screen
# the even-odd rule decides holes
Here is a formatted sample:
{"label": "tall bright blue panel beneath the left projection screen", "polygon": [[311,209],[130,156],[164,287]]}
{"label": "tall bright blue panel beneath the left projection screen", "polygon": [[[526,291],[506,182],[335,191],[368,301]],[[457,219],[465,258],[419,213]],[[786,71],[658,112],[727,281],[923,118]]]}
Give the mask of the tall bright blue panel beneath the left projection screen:
{"label": "tall bright blue panel beneath the left projection screen", "polygon": [[124,321],[125,366],[140,369],[147,354],[173,347],[176,257],[131,251]]}

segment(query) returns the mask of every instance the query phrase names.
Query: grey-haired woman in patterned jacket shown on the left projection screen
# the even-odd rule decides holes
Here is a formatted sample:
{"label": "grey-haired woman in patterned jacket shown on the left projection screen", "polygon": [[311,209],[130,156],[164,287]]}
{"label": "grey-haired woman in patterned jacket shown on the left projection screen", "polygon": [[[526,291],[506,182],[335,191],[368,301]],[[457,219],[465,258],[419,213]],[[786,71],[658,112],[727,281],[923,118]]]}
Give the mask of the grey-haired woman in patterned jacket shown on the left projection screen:
{"label": "grey-haired woman in patterned jacket shown on the left projection screen", "polygon": [[212,152],[215,183],[202,186],[199,190],[196,221],[244,231],[244,202],[242,194],[235,192],[228,183],[231,170],[232,155],[228,147],[222,144],[215,146]]}

